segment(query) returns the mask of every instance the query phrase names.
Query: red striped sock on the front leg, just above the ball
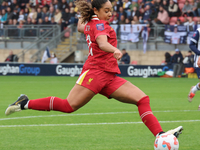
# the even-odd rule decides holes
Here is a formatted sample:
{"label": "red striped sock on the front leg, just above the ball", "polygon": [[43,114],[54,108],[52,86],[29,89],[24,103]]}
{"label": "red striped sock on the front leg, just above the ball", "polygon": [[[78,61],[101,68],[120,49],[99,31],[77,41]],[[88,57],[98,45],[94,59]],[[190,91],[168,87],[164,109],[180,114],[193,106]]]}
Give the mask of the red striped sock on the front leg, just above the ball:
{"label": "red striped sock on the front leg, just above the ball", "polygon": [[162,132],[162,128],[157,118],[153,115],[149,103],[149,97],[145,96],[137,102],[138,111],[140,117],[144,124],[149,128],[149,130],[156,136],[158,133]]}

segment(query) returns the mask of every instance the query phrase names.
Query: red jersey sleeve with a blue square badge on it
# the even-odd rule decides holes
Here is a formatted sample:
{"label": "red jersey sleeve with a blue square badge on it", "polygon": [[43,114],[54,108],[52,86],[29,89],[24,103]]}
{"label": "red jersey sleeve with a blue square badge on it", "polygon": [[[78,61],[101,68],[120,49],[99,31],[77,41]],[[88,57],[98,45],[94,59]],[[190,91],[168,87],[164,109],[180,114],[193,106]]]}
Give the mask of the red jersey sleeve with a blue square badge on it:
{"label": "red jersey sleeve with a blue square badge on it", "polygon": [[98,22],[95,27],[94,27],[94,35],[95,35],[95,39],[99,36],[99,35],[107,35],[108,37],[110,37],[110,30],[111,27],[109,26],[108,22]]}

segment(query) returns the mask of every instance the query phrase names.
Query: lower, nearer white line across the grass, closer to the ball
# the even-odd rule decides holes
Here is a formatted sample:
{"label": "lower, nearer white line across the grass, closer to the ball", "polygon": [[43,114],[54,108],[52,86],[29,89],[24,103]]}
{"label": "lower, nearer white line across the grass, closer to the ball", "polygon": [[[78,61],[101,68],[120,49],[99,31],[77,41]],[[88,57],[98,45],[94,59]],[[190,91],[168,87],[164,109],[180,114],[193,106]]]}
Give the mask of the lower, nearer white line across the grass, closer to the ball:
{"label": "lower, nearer white line across the grass, closer to the ball", "polygon": [[[176,121],[159,121],[160,123],[174,122],[200,122],[200,120],[176,120]],[[30,125],[0,125],[0,128],[9,127],[53,127],[53,126],[94,126],[94,125],[121,125],[121,124],[142,124],[143,122],[103,122],[103,123],[72,123],[72,124],[30,124]]]}

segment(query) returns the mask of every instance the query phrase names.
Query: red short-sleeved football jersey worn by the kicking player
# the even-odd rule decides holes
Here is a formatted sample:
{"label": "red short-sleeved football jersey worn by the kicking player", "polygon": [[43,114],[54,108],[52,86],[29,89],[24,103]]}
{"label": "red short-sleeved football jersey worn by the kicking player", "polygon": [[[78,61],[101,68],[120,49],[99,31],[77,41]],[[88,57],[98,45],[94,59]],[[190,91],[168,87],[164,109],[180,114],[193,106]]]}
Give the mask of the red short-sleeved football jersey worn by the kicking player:
{"label": "red short-sleeved football jersey worn by the kicking player", "polygon": [[106,72],[120,74],[117,59],[113,53],[101,50],[96,42],[99,35],[107,35],[108,42],[117,47],[116,33],[109,23],[104,20],[99,20],[93,16],[92,20],[85,25],[84,34],[89,48],[88,59],[86,60],[83,70],[99,69]]}

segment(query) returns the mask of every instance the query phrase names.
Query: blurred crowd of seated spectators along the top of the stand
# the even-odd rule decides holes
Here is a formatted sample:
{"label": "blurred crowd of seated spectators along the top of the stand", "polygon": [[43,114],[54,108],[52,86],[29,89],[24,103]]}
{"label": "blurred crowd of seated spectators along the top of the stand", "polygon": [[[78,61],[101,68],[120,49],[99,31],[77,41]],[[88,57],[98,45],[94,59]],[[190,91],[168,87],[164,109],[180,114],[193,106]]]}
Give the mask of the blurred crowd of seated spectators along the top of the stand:
{"label": "blurred crowd of seated spectators along the top of the stand", "polygon": [[[86,0],[90,2],[90,0]],[[199,0],[113,0],[112,24],[194,24],[200,22]],[[59,24],[64,30],[77,23],[73,0],[0,0],[3,25]]]}

